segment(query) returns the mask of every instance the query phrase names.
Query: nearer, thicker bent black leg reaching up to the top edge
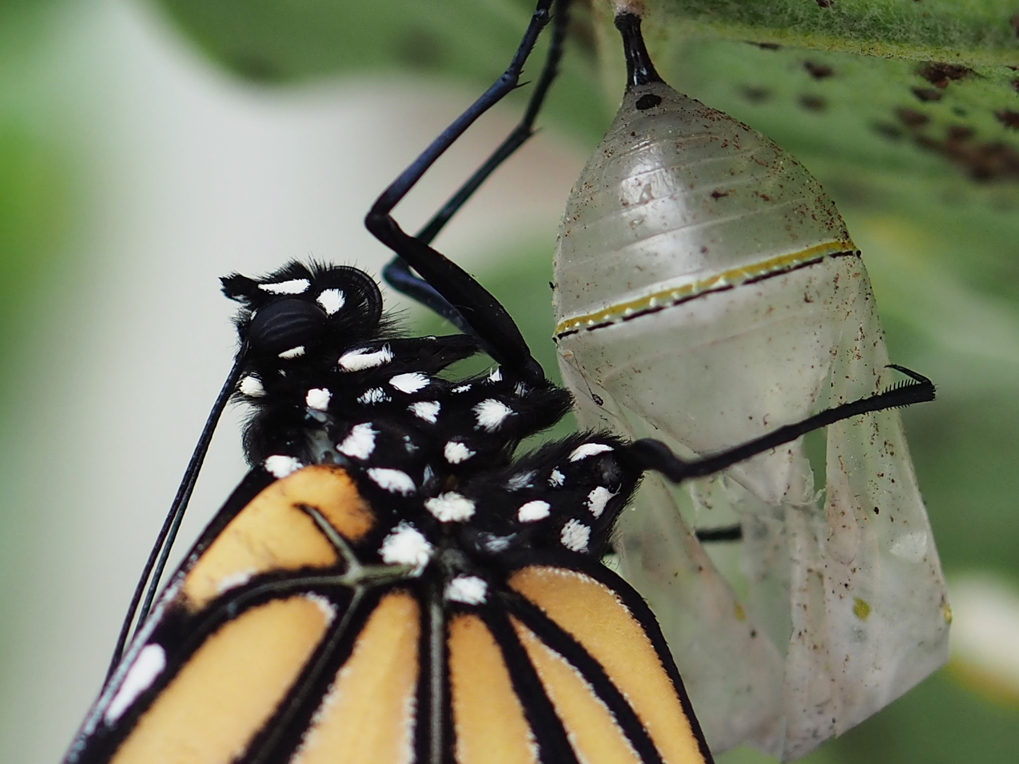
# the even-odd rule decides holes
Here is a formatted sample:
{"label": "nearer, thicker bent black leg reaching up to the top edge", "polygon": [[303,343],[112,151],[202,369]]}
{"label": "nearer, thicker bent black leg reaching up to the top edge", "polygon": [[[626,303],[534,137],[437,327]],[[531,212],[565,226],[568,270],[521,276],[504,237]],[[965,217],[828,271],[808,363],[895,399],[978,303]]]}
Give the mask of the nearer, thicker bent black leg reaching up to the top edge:
{"label": "nearer, thicker bent black leg reaching up to the top edge", "polygon": [[520,329],[506,310],[463,268],[433,250],[427,242],[406,233],[393,219],[391,212],[446,149],[478,117],[517,87],[524,63],[534,49],[538,35],[548,23],[552,2],[553,0],[538,0],[520,47],[502,76],[446,127],[382,193],[365,218],[368,230],[421,274],[463,316],[492,358],[517,370],[535,384],[544,381],[544,372],[531,357]]}

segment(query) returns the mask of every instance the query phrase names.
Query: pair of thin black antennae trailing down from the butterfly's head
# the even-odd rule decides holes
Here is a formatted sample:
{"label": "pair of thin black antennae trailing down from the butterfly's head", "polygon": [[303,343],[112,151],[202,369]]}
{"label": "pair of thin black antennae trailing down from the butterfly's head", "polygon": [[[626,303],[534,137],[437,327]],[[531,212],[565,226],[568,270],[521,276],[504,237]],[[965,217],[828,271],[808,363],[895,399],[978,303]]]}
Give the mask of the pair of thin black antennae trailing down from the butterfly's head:
{"label": "pair of thin black antennae trailing down from the butterfly's head", "polygon": [[[180,529],[180,521],[183,520],[187,502],[191,500],[192,492],[195,490],[195,483],[198,481],[198,474],[202,469],[202,462],[205,461],[205,454],[209,450],[209,443],[212,442],[212,436],[216,431],[219,418],[223,415],[226,403],[229,401],[230,395],[233,394],[233,390],[236,389],[237,382],[239,381],[240,371],[244,368],[245,349],[242,347],[237,351],[233,368],[230,369],[230,373],[223,383],[219,395],[216,396],[216,402],[212,404],[212,411],[209,412],[209,417],[205,421],[205,427],[202,428],[202,434],[199,436],[198,443],[195,444],[195,450],[192,452],[191,459],[187,461],[187,468],[180,479],[177,494],[173,497],[170,509],[166,513],[166,520],[163,521],[163,527],[159,529],[156,542],[152,546],[152,551],[149,552],[149,559],[146,560],[145,567],[142,569],[142,576],[139,579],[138,586],[135,587],[135,594],[131,595],[130,604],[127,606],[127,613],[124,615],[124,622],[120,626],[120,635],[117,637],[116,647],[113,648],[110,667],[106,669],[107,681],[109,681],[114,669],[120,662],[120,658],[123,656],[124,646],[127,644],[127,636],[130,633],[130,625],[135,621],[135,613],[138,613],[138,626],[141,626],[142,622],[149,615],[149,610],[152,608],[152,600],[159,589],[159,580],[163,577],[163,570],[166,568],[166,560],[170,556],[170,548],[173,546],[173,541],[177,537],[177,531]],[[146,588],[147,582],[149,585],[148,588]],[[142,602],[143,593],[145,594],[144,602]],[[139,608],[139,602],[142,602],[141,608]],[[138,626],[136,626],[136,632],[138,631]]]}

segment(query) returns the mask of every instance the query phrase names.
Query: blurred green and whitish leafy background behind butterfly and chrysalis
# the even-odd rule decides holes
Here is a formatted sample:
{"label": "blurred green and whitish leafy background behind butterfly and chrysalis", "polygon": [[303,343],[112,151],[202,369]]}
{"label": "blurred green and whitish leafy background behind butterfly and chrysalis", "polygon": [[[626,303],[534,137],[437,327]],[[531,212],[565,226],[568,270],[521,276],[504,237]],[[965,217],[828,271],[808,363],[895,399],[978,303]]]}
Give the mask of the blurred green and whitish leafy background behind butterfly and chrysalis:
{"label": "blurred green and whitish leafy background behind butterfly and chrysalis", "polygon": [[[648,4],[665,77],[836,198],[892,357],[938,383],[904,418],[950,579],[952,662],[807,760],[1015,761],[1019,6]],[[216,276],[308,255],[377,269],[368,205],[501,71],[529,5],[0,0],[0,761],[56,761],[99,688],[229,363]],[[541,134],[439,240],[548,369],[556,220],[622,88],[607,6],[577,6]],[[525,97],[400,206],[409,227]],[[243,474],[235,433],[227,421],[214,441],[185,536]]]}

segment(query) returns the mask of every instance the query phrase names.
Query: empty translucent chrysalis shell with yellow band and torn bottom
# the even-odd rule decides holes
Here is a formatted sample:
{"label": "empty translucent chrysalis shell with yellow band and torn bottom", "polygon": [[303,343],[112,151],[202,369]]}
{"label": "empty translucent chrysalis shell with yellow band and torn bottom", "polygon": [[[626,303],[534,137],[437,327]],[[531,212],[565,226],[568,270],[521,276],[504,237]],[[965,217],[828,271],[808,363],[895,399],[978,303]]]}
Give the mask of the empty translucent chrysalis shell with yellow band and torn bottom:
{"label": "empty translucent chrysalis shell with yellow band and torn bottom", "polygon": [[[556,342],[583,427],[709,453],[893,379],[859,253],[772,142],[662,83],[633,88],[568,202]],[[818,459],[819,460],[819,459]],[[947,659],[941,565],[897,412],[798,441],[619,524],[714,751],[806,754]],[[739,522],[741,554],[693,528]],[[709,556],[710,552],[710,556]]]}

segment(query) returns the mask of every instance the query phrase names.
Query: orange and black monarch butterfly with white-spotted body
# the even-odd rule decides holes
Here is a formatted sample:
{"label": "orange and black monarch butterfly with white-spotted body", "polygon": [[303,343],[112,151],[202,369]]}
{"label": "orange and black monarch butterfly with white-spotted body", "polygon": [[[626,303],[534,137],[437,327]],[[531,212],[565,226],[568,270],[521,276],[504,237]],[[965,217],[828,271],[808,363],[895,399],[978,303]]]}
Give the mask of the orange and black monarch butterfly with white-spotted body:
{"label": "orange and black monarch butterfly with white-spotted body", "polygon": [[[711,760],[654,616],[600,564],[638,481],[711,474],[933,388],[906,372],[696,461],[592,432],[515,455],[570,394],[494,297],[390,212],[516,86],[550,5],[366,221],[472,334],[405,336],[351,267],[223,279],[240,342],[214,412],[231,394],[252,406],[253,469],[117,651],[66,762]],[[482,348],[490,373],[439,376]]]}

